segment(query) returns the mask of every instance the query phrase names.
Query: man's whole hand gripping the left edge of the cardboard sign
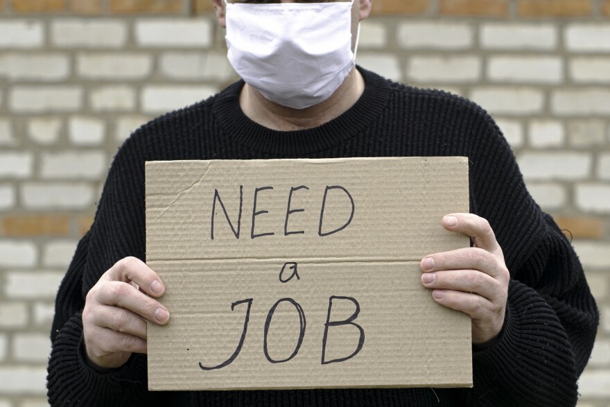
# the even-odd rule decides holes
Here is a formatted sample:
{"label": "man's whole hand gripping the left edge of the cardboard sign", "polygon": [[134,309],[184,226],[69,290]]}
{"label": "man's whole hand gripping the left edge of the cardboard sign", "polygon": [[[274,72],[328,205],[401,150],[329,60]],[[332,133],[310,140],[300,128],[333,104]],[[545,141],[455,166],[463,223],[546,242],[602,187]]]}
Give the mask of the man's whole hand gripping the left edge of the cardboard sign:
{"label": "man's whole hand gripping the left edge of the cardboard sign", "polygon": [[107,270],[87,293],[82,329],[89,360],[100,367],[121,367],[132,353],[146,354],[146,321],[169,320],[157,273],[135,257],[125,257]]}

